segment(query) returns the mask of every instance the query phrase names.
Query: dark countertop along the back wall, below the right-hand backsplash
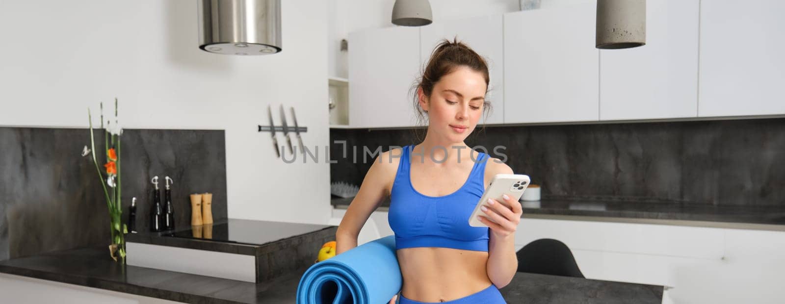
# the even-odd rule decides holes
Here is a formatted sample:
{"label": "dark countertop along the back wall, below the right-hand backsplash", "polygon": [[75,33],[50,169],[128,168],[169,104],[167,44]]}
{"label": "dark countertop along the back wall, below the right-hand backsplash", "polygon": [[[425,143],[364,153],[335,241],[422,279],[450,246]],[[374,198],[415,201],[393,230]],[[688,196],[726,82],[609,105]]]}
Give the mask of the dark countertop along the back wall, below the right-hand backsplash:
{"label": "dark countertop along the back wall, below the right-hand backsplash", "polygon": [[[346,208],[352,198],[332,197],[335,208]],[[681,202],[543,199],[521,201],[526,215],[578,215],[628,219],[669,219],[722,223],[785,224],[785,206],[715,206]],[[379,211],[389,209],[389,198]]]}

